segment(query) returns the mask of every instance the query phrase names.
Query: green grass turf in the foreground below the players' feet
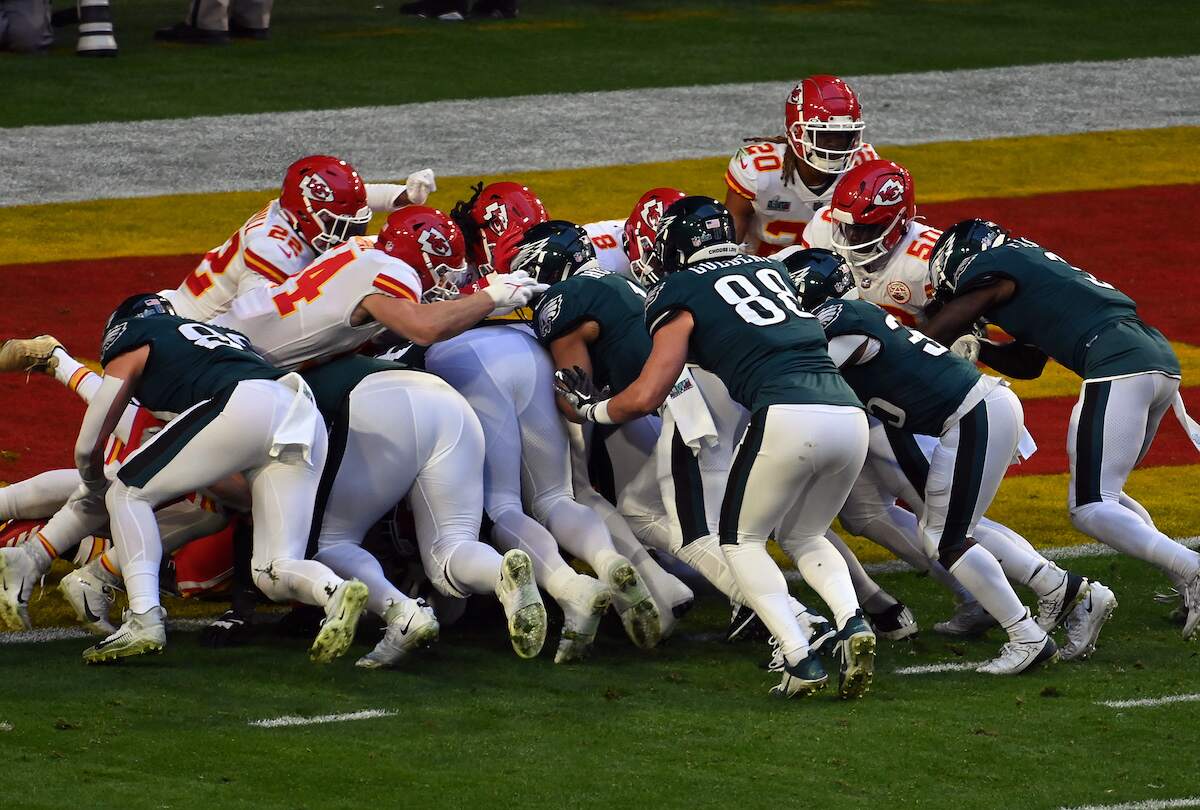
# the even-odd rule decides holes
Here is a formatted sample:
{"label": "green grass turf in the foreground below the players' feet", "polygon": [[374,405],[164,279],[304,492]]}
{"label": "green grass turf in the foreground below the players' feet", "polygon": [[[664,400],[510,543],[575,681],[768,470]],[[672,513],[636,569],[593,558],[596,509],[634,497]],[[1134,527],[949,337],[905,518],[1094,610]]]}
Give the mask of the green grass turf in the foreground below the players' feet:
{"label": "green grass turf in the foreground below the players' feet", "polygon": [[[890,674],[982,660],[1000,644],[996,631],[971,642],[924,634],[913,644],[883,642],[875,688],[853,703],[829,694],[769,698],[773,678],[756,666],[764,646],[701,637],[724,626],[715,599],[653,654],[605,637],[574,667],[554,666],[548,650],[517,660],[499,630],[449,629],[395,672],[349,660],[318,668],[298,641],[215,652],[175,634],[161,658],[100,668],[79,662],[80,641],[5,646],[4,803],[1051,808],[1200,793],[1200,704],[1094,704],[1198,691],[1198,647],[1151,600],[1160,578],[1115,557],[1074,568],[1121,599],[1092,661],[1012,679]],[[950,610],[929,580],[881,581],[925,623]],[[398,714],[246,725],[371,708]]]}

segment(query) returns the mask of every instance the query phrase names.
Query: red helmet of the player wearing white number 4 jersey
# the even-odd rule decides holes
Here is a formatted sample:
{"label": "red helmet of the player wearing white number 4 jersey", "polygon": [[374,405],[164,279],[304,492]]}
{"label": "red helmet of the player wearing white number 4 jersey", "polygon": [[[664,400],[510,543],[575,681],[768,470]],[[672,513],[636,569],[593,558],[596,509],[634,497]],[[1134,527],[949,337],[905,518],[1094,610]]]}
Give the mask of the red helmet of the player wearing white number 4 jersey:
{"label": "red helmet of the player wearing white number 4 jersey", "polygon": [[376,250],[416,270],[421,300],[454,298],[468,281],[467,241],[454,220],[436,208],[406,205],[392,211]]}

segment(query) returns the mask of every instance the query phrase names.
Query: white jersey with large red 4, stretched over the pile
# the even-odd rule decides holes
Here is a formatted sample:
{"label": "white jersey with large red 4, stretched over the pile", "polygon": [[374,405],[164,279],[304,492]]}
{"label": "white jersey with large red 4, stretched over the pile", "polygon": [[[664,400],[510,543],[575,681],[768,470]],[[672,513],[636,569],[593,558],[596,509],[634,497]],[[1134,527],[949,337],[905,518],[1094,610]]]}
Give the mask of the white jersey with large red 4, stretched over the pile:
{"label": "white jersey with large red 4, stretched over the pile", "polygon": [[355,236],[326,251],[298,276],[236,299],[214,324],[235,329],[269,362],[294,370],[354,352],[384,331],[374,320],[354,325],[354,311],[368,295],[420,300],[416,271]]}

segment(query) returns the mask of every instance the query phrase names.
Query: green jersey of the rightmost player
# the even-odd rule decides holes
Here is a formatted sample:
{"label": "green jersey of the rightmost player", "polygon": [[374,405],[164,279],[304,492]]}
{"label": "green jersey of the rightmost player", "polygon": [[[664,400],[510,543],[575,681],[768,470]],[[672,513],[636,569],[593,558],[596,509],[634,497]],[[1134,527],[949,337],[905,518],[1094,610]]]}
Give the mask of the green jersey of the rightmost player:
{"label": "green jersey of the rightmost player", "polygon": [[1013,239],[965,264],[956,283],[960,295],[992,278],[1013,281],[1013,298],[984,317],[1084,379],[1180,373],[1170,343],[1138,318],[1133,299],[1039,245]]}

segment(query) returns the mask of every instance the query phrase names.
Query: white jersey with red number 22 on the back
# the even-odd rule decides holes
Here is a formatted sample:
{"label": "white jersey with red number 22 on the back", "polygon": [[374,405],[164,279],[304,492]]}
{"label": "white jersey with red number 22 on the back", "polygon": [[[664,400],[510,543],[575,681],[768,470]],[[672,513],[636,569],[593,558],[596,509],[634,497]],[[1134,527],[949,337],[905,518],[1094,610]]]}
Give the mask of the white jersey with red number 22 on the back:
{"label": "white jersey with red number 22 on the back", "polygon": [[317,253],[292,228],[280,200],[234,232],[224,245],[204,254],[179,289],[163,292],[184,318],[211,320],[256,287],[270,287],[304,270]]}

